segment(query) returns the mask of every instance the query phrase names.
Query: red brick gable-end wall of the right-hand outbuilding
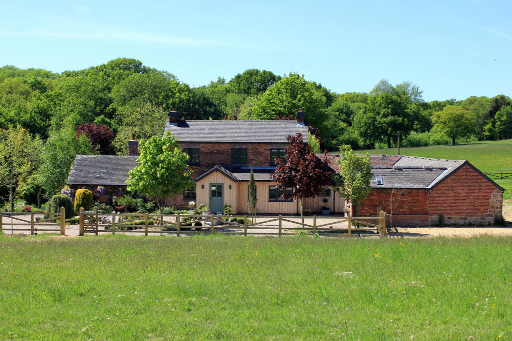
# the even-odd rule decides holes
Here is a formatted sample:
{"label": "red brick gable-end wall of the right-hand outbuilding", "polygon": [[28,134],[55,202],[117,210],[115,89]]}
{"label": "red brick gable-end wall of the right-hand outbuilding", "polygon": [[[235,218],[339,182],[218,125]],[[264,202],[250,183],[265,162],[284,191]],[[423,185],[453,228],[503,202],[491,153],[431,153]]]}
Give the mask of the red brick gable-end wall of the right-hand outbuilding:
{"label": "red brick gable-end wall of the right-hand outbuilding", "polygon": [[429,193],[430,223],[486,225],[502,214],[501,190],[465,165]]}

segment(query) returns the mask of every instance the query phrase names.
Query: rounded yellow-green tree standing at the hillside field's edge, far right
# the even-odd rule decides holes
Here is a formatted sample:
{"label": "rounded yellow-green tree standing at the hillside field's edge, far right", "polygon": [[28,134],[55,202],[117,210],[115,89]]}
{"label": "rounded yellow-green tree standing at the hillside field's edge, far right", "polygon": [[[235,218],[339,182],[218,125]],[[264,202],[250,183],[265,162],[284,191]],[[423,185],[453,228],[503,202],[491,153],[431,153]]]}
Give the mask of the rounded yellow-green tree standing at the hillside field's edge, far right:
{"label": "rounded yellow-green tree standing at the hillside field's edge, far right", "polygon": [[452,140],[452,145],[457,143],[457,139],[471,137],[477,132],[475,114],[460,106],[447,105],[434,112],[432,122],[432,132],[446,135]]}

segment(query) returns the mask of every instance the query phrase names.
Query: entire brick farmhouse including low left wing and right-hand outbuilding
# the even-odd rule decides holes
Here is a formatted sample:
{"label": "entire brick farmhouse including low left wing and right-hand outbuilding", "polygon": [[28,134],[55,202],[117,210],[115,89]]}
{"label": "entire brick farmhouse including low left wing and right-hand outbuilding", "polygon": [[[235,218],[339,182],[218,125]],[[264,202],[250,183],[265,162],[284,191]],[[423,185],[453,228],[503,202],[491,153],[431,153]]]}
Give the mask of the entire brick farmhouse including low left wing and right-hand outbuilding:
{"label": "entire brick farmhouse including low left wing and right-hand outbuilding", "polygon": [[[275,159],[284,157],[286,137],[297,132],[307,136],[304,112],[296,121],[202,121],[182,120],[169,113],[165,131],[174,134],[189,165],[196,186],[167,199],[167,206],[187,209],[189,201],[205,204],[211,212],[246,213],[250,168],[257,189],[260,214],[298,214],[297,200],[283,200],[282,190],[270,178]],[[128,172],[137,165],[137,141],[128,142],[127,156],[76,155],[68,184],[86,187],[96,200],[109,201],[125,191]],[[339,171],[339,156],[329,156],[330,170]],[[371,155],[372,191],[359,207],[346,203],[325,186],[305,209],[353,216],[392,213],[394,225],[436,225],[440,215],[446,224],[488,224],[501,217],[503,188],[467,161],[440,160],[403,155]],[[291,189],[288,189],[291,191]],[[391,222],[391,221],[390,221]]]}

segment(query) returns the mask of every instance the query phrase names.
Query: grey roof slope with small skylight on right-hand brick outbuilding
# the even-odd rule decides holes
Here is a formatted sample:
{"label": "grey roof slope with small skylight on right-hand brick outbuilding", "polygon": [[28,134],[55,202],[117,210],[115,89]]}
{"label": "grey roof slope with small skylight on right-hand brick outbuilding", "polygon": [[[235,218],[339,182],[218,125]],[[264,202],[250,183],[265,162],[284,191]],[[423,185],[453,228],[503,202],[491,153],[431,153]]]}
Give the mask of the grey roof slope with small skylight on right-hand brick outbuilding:
{"label": "grey roof slope with small skylight on right-hand brick outbuilding", "polygon": [[[446,172],[444,167],[372,167],[370,184],[374,188],[429,188],[438,177]],[[376,178],[382,177],[383,185],[377,185]]]}

